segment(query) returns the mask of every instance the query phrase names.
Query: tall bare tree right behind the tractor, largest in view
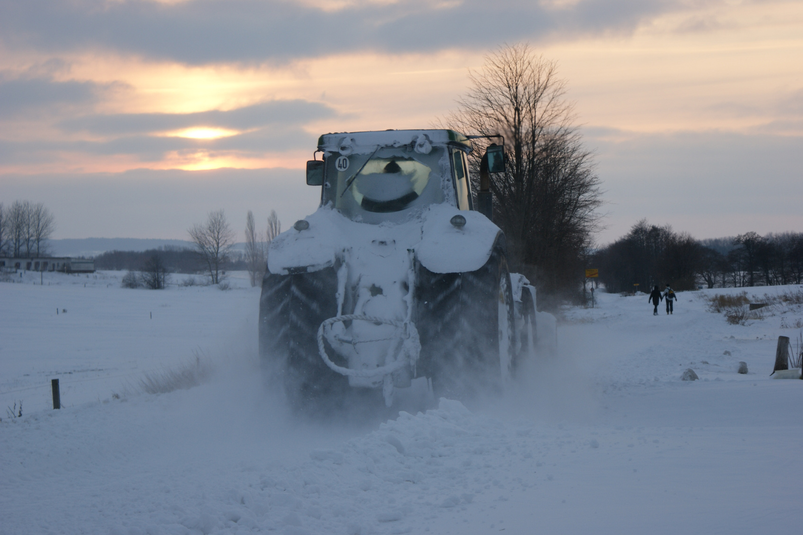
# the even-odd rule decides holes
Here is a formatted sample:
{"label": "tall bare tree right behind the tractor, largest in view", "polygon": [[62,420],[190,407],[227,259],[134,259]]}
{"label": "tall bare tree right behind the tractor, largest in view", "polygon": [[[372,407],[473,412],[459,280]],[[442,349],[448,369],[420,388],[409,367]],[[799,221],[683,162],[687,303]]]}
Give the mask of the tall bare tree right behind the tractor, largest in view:
{"label": "tall bare tree right behind the tractor, largest in view", "polygon": [[[524,44],[487,55],[469,79],[471,88],[446,122],[466,134],[505,137],[507,172],[491,179],[491,192],[512,268],[547,294],[579,292],[582,252],[599,228],[601,192],[593,155],[573,124],[565,80],[556,63]],[[475,180],[482,153],[471,155]]]}

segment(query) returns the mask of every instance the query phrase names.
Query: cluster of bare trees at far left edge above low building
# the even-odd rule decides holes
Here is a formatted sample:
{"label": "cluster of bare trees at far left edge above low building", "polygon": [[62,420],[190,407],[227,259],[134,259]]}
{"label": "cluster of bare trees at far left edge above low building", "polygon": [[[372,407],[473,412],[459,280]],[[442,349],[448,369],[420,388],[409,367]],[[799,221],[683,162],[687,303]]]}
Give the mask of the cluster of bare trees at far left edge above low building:
{"label": "cluster of bare trees at far left edge above low building", "polygon": [[55,231],[55,218],[41,202],[0,203],[0,256],[47,256],[47,240]]}

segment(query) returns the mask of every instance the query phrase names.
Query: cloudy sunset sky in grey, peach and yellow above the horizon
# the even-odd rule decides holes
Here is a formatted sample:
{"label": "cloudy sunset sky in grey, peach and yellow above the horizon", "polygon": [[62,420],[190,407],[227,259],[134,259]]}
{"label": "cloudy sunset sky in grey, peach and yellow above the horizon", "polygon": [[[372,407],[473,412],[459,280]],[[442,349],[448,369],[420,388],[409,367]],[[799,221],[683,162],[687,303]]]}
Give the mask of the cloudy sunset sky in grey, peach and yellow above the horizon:
{"label": "cloudy sunset sky in grey, peach and yellow above the horizon", "polygon": [[283,228],[325,132],[432,128],[505,44],[557,62],[604,245],[803,231],[803,2],[0,0],[0,202],[54,238]]}

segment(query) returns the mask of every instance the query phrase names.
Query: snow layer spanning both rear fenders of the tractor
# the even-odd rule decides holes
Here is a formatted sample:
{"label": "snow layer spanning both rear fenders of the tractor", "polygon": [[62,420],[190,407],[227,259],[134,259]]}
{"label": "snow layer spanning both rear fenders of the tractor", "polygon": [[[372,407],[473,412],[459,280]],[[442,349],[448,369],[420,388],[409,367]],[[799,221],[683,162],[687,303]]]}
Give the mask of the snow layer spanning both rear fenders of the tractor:
{"label": "snow layer spanning both rear fenders of the tractor", "polygon": [[[466,218],[463,228],[450,223],[455,215]],[[352,221],[322,206],[305,221],[307,229],[291,227],[271,241],[267,269],[272,274],[323,270],[334,265],[344,250],[377,243],[393,244],[397,253],[414,249],[418,261],[433,273],[474,271],[485,265],[501,233],[481,213],[450,205],[430,205],[404,222],[380,225]]]}

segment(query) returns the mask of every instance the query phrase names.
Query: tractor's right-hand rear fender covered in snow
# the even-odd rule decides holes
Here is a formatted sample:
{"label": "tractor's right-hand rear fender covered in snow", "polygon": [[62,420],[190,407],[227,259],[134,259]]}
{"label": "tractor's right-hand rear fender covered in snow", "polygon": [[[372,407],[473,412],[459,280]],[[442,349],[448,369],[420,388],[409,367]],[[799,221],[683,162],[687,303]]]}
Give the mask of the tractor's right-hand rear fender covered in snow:
{"label": "tractor's right-hand rear fender covered in snow", "polygon": [[[465,217],[466,225],[452,225],[456,215]],[[485,265],[499,241],[503,242],[502,231],[483,214],[434,205],[426,213],[416,256],[433,273],[475,271]]]}

